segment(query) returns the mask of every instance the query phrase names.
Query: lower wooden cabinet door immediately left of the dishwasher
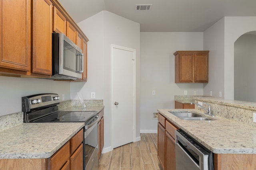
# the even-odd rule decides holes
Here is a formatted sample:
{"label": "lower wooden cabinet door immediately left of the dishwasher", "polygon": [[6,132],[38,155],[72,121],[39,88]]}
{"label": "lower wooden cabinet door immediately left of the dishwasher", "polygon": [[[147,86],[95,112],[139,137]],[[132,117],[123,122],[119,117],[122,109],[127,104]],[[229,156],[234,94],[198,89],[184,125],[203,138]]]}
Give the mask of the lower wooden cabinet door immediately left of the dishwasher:
{"label": "lower wooden cabinet door immediately left of the dishwasher", "polygon": [[169,133],[166,134],[166,164],[165,170],[175,170],[175,140]]}

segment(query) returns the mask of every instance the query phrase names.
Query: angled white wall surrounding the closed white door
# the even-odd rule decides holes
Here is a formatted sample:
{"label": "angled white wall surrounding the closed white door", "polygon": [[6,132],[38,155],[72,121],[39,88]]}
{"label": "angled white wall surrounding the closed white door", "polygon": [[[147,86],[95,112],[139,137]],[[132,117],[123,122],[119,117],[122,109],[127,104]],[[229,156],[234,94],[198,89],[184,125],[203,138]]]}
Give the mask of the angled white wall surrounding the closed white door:
{"label": "angled white wall surrounding the closed white door", "polygon": [[88,37],[88,82],[71,84],[71,96],[80,91],[84,99],[96,92],[104,101],[104,150],[111,150],[110,45],[136,49],[136,138],[140,138],[140,25],[116,14],[102,11],[80,23]]}

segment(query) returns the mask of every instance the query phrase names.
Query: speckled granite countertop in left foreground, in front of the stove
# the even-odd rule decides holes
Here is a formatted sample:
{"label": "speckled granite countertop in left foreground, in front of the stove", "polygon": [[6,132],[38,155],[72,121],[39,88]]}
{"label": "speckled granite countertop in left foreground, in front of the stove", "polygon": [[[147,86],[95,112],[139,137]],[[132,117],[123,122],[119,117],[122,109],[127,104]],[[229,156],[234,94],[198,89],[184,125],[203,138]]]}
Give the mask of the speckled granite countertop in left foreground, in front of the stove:
{"label": "speckled granite countertop in left foreground, in front of the stove", "polygon": [[49,158],[84,123],[22,123],[0,131],[0,158]]}

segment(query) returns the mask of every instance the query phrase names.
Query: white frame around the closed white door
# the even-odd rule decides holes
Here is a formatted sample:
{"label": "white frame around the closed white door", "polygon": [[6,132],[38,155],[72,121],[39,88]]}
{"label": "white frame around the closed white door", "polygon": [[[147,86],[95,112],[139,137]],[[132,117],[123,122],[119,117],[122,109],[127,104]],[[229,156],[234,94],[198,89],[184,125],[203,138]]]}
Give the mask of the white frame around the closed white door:
{"label": "white frame around the closed white door", "polygon": [[133,142],[135,142],[136,139],[136,50],[127,48],[127,47],[122,47],[119,45],[114,45],[111,44],[111,55],[110,55],[110,115],[111,115],[111,149],[113,150],[113,107],[114,107],[114,101],[113,101],[113,50],[114,49],[120,49],[120,50],[125,50],[125,51],[130,51],[133,53],[133,58],[134,58],[134,66],[133,66],[133,74],[134,74],[134,100],[133,100]]}

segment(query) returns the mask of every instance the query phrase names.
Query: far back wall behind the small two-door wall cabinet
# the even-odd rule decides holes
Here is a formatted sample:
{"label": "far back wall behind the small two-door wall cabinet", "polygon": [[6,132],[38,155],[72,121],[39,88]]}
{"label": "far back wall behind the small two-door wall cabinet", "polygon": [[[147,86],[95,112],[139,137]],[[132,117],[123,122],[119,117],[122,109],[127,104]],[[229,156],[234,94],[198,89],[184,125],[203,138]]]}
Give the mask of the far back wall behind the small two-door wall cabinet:
{"label": "far back wall behind the small two-door wall cabinet", "polygon": [[[203,95],[203,83],[175,83],[175,51],[203,50],[202,32],[140,33],[140,131],[157,132],[152,112],[174,108],[174,96]],[[152,90],[156,95],[152,95]]]}

